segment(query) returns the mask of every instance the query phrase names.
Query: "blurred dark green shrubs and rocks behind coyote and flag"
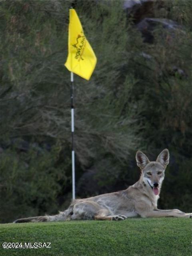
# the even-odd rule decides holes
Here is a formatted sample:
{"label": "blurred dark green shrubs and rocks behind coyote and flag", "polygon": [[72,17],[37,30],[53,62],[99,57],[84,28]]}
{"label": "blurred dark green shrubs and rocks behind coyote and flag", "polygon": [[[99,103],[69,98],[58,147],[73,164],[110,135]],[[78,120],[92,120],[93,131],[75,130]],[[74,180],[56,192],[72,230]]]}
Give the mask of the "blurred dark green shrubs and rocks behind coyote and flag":
{"label": "blurred dark green shrubs and rocks behind coyote and flag", "polygon": [[159,208],[192,212],[192,2],[5,0],[0,222],[70,203],[70,6],[98,59],[90,81],[75,76],[77,197],[125,189],[138,149],[168,148]]}

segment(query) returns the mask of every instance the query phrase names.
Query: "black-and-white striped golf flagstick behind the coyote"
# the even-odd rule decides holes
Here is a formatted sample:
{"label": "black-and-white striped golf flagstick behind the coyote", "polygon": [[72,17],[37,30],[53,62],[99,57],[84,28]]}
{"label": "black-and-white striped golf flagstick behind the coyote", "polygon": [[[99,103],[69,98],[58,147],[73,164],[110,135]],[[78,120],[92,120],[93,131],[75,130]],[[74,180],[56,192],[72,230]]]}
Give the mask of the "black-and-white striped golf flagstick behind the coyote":
{"label": "black-and-white striped golf flagstick behind the coyote", "polygon": [[74,78],[71,72],[71,134],[72,134],[72,199],[75,199],[75,151],[74,151]]}

